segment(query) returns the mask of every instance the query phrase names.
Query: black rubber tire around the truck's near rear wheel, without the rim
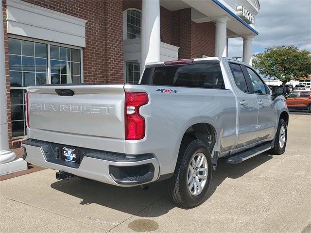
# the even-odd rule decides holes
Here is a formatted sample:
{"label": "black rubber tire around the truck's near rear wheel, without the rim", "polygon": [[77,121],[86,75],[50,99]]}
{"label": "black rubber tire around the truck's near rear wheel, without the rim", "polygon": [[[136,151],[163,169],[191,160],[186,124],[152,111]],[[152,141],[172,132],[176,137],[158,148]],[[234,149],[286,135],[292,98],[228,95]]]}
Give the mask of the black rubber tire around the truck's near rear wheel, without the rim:
{"label": "black rubber tire around the truck's near rear wheel, without the rim", "polygon": [[[202,191],[196,196],[188,188],[188,166],[197,153],[203,153],[207,159],[207,179]],[[203,158],[203,157],[202,157]],[[173,176],[164,181],[167,196],[176,205],[191,208],[206,200],[212,178],[212,160],[207,146],[198,139],[183,140]]]}

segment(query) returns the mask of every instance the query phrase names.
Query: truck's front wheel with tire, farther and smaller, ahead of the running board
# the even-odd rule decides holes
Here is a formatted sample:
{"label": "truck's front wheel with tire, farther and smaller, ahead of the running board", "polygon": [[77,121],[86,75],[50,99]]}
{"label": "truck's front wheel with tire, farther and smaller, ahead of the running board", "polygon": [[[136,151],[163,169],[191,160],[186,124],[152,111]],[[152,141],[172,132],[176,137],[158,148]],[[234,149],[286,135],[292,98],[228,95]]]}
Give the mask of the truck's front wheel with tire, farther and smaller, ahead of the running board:
{"label": "truck's front wheel with tire, farther and smaller, ahead of the running board", "polygon": [[270,152],[273,154],[283,154],[285,152],[286,142],[287,142],[287,125],[286,122],[281,118],[278,122],[274,148],[272,148]]}

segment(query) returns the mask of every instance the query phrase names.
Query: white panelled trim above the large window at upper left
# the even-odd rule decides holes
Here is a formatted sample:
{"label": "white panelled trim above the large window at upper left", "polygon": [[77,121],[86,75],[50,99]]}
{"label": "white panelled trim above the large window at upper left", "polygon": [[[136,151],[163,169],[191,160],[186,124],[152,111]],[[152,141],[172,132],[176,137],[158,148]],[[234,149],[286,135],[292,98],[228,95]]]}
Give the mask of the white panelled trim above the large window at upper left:
{"label": "white panelled trim above the large window at upper left", "polygon": [[6,0],[8,33],[86,47],[87,20],[20,0]]}

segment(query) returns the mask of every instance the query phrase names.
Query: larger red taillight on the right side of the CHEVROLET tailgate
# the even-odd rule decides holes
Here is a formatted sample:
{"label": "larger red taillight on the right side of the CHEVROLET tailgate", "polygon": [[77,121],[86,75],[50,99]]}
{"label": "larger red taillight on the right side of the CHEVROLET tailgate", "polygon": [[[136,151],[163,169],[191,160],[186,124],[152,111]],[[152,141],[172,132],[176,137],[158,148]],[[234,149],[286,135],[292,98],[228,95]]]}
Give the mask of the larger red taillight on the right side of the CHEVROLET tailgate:
{"label": "larger red taillight on the right side of the CHEVROLET tailgate", "polygon": [[143,92],[125,92],[125,139],[138,140],[145,136],[145,118],[139,115],[139,107],[148,103]]}

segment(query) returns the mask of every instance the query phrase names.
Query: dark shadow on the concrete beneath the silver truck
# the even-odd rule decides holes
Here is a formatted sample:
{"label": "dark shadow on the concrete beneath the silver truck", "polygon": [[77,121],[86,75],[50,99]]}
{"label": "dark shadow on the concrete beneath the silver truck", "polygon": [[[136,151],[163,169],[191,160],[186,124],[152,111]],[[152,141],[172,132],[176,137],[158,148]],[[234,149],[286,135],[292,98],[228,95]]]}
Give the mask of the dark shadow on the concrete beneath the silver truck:
{"label": "dark shadow on the concrete beneath the silver truck", "polygon": [[[225,160],[220,159],[216,171],[213,172],[207,198],[216,191],[217,187],[223,183],[225,179],[238,179],[272,158],[273,156],[270,154],[262,153],[237,165],[227,164],[224,162]],[[73,177],[69,180],[61,180],[52,183],[51,187],[60,192],[82,199],[80,202],[81,205],[96,203],[104,207],[140,217],[162,216],[171,209],[176,208],[165,196],[163,182],[152,183],[148,190],[143,191],[139,186],[117,187]],[[154,208],[151,211],[142,211],[152,205]]]}

